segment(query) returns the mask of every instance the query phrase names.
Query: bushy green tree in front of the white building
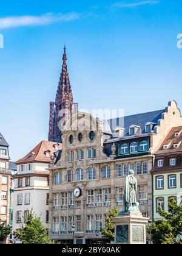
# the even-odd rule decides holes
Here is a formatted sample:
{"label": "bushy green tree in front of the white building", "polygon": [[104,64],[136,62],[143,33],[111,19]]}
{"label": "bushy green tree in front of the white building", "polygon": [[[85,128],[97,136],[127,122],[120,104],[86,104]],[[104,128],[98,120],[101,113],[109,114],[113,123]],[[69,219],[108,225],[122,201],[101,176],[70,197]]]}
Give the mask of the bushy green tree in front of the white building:
{"label": "bushy green tree in front of the white building", "polygon": [[47,229],[42,224],[41,219],[30,212],[21,229],[15,231],[13,235],[21,240],[22,244],[47,244],[50,243]]}

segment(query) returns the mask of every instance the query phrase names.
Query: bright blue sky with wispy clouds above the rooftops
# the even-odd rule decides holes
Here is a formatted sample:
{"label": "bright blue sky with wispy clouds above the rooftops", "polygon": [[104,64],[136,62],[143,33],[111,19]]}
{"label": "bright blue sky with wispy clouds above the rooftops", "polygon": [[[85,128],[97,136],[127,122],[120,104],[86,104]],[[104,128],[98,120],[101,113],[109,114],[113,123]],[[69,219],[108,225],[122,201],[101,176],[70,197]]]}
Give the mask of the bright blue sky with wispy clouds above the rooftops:
{"label": "bright blue sky with wispy clouds above the rooftops", "polygon": [[182,109],[181,0],[3,1],[1,123],[18,160],[47,140],[64,43],[79,108]]}

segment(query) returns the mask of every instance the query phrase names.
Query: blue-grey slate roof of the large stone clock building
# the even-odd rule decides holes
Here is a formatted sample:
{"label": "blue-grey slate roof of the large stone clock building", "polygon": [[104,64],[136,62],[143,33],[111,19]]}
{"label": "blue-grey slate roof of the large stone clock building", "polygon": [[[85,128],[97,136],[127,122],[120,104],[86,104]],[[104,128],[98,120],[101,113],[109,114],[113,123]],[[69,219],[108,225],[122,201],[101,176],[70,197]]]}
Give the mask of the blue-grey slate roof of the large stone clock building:
{"label": "blue-grey slate roof of the large stone clock building", "polygon": [[126,129],[124,136],[129,135],[129,127],[132,125],[140,126],[141,133],[145,133],[145,125],[147,122],[158,123],[158,120],[161,119],[162,114],[165,110],[157,110],[153,112],[141,113],[136,115],[124,116],[124,118],[114,118],[107,120],[112,132],[115,131],[117,126]]}

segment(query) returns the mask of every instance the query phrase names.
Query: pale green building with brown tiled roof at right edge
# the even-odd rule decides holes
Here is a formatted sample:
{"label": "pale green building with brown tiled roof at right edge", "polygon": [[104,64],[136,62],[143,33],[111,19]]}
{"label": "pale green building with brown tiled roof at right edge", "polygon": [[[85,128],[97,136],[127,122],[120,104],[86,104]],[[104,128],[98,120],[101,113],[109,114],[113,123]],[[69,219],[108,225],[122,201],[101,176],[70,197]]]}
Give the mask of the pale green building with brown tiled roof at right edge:
{"label": "pale green building with brown tiled roof at right edge", "polygon": [[158,206],[166,212],[170,198],[182,202],[182,127],[173,127],[155,153],[153,176],[153,218],[160,219]]}

